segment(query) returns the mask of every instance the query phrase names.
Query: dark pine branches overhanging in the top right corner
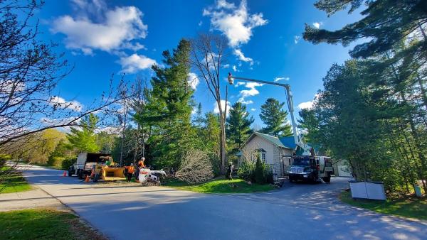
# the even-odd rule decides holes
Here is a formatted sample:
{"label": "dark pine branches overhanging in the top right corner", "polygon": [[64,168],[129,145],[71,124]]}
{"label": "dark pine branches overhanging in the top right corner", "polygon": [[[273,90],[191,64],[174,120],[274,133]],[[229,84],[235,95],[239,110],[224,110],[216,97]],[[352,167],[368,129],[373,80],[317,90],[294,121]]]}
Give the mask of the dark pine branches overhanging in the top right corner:
{"label": "dark pine branches overhanging in the top right corner", "polygon": [[[366,4],[367,8],[362,11],[363,18],[359,21],[349,23],[337,31],[317,29],[306,24],[304,39],[316,44],[342,43],[347,46],[353,41],[367,38],[367,42],[359,43],[350,51],[354,58],[367,58],[393,49],[399,40],[418,30],[418,24],[427,20],[426,1],[319,0],[315,6],[332,15],[347,9],[347,6],[350,6],[351,13],[362,4]],[[417,50],[426,53],[425,48]]]}

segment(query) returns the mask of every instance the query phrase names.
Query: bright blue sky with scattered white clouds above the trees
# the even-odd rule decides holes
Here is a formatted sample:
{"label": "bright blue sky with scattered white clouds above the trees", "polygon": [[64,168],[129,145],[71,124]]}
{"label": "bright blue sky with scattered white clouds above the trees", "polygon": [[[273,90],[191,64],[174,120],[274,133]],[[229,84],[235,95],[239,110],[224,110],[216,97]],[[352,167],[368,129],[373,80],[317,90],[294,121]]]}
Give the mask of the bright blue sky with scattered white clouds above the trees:
{"label": "bright blue sky with scattered white clouds above the trees", "polygon": [[[41,38],[58,43],[56,51],[74,65],[60,82],[60,101],[88,106],[108,88],[110,76],[126,72],[152,76],[149,67],[162,61],[162,51],[175,48],[181,38],[199,32],[222,34],[229,41],[227,72],[241,77],[286,82],[291,85],[295,109],[310,107],[317,89],[334,62],[349,59],[349,48],[313,45],[302,39],[305,23],[329,30],[360,18],[343,11],[328,18],[314,1],[46,1],[36,13]],[[117,77],[118,78],[118,77]],[[242,101],[259,119],[260,105],[268,97],[285,102],[280,87],[237,84],[229,87],[229,102]],[[223,86],[226,86],[224,80]],[[214,110],[214,98],[203,80],[196,84],[196,102],[204,111]],[[238,86],[237,86],[238,85]]]}

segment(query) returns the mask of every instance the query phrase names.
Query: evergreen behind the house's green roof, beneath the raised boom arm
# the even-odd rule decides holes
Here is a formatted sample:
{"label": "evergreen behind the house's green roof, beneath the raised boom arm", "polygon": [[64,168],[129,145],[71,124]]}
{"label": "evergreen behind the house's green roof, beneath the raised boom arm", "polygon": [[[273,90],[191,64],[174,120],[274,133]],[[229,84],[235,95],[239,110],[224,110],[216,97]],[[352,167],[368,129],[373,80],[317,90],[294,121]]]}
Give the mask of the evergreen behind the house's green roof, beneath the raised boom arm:
{"label": "evergreen behind the house's green roof, beneath the raised boom arm", "polygon": [[280,103],[277,99],[269,98],[265,104],[261,105],[260,119],[265,127],[263,133],[273,136],[292,136],[292,126],[287,123],[288,112],[283,110],[285,103]]}

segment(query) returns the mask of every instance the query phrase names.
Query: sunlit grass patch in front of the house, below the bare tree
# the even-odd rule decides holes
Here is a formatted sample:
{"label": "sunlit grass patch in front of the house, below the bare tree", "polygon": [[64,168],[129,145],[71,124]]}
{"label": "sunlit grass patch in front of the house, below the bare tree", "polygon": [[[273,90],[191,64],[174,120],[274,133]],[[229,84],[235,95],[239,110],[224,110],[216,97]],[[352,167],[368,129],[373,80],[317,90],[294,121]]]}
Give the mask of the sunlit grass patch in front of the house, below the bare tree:
{"label": "sunlit grass patch in front of the house, below the bare tree", "polygon": [[171,180],[162,184],[166,187],[173,187],[179,190],[189,190],[201,193],[248,193],[248,192],[267,192],[273,190],[273,185],[249,185],[241,179],[225,180],[216,178],[209,182],[204,182],[196,185],[189,185],[186,182]]}

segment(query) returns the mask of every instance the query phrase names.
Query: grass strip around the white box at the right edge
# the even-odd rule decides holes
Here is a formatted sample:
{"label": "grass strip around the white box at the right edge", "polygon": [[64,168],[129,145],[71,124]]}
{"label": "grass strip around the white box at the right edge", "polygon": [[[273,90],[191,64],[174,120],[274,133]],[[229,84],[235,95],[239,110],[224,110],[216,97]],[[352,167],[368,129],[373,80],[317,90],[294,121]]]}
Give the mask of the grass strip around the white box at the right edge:
{"label": "grass strip around the white box at the right edge", "polygon": [[342,202],[383,214],[427,220],[427,198],[389,198],[384,201],[353,200],[350,192],[341,192]]}

